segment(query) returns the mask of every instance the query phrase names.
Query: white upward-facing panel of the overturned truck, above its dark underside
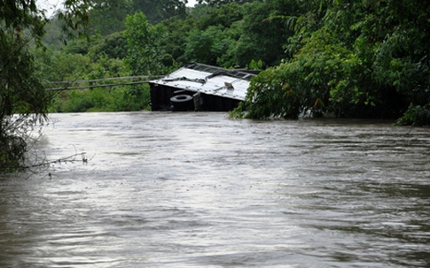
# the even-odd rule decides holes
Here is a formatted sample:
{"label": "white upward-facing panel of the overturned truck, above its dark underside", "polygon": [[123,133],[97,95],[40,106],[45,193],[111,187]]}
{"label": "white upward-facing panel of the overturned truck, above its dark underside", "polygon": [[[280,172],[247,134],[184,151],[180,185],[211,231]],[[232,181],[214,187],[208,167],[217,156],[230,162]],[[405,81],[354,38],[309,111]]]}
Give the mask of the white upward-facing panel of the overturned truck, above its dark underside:
{"label": "white upward-facing panel of the overturned truck, above its dark underside", "polygon": [[172,88],[245,100],[246,90],[254,73],[245,70],[223,69],[211,65],[190,64],[152,83]]}

